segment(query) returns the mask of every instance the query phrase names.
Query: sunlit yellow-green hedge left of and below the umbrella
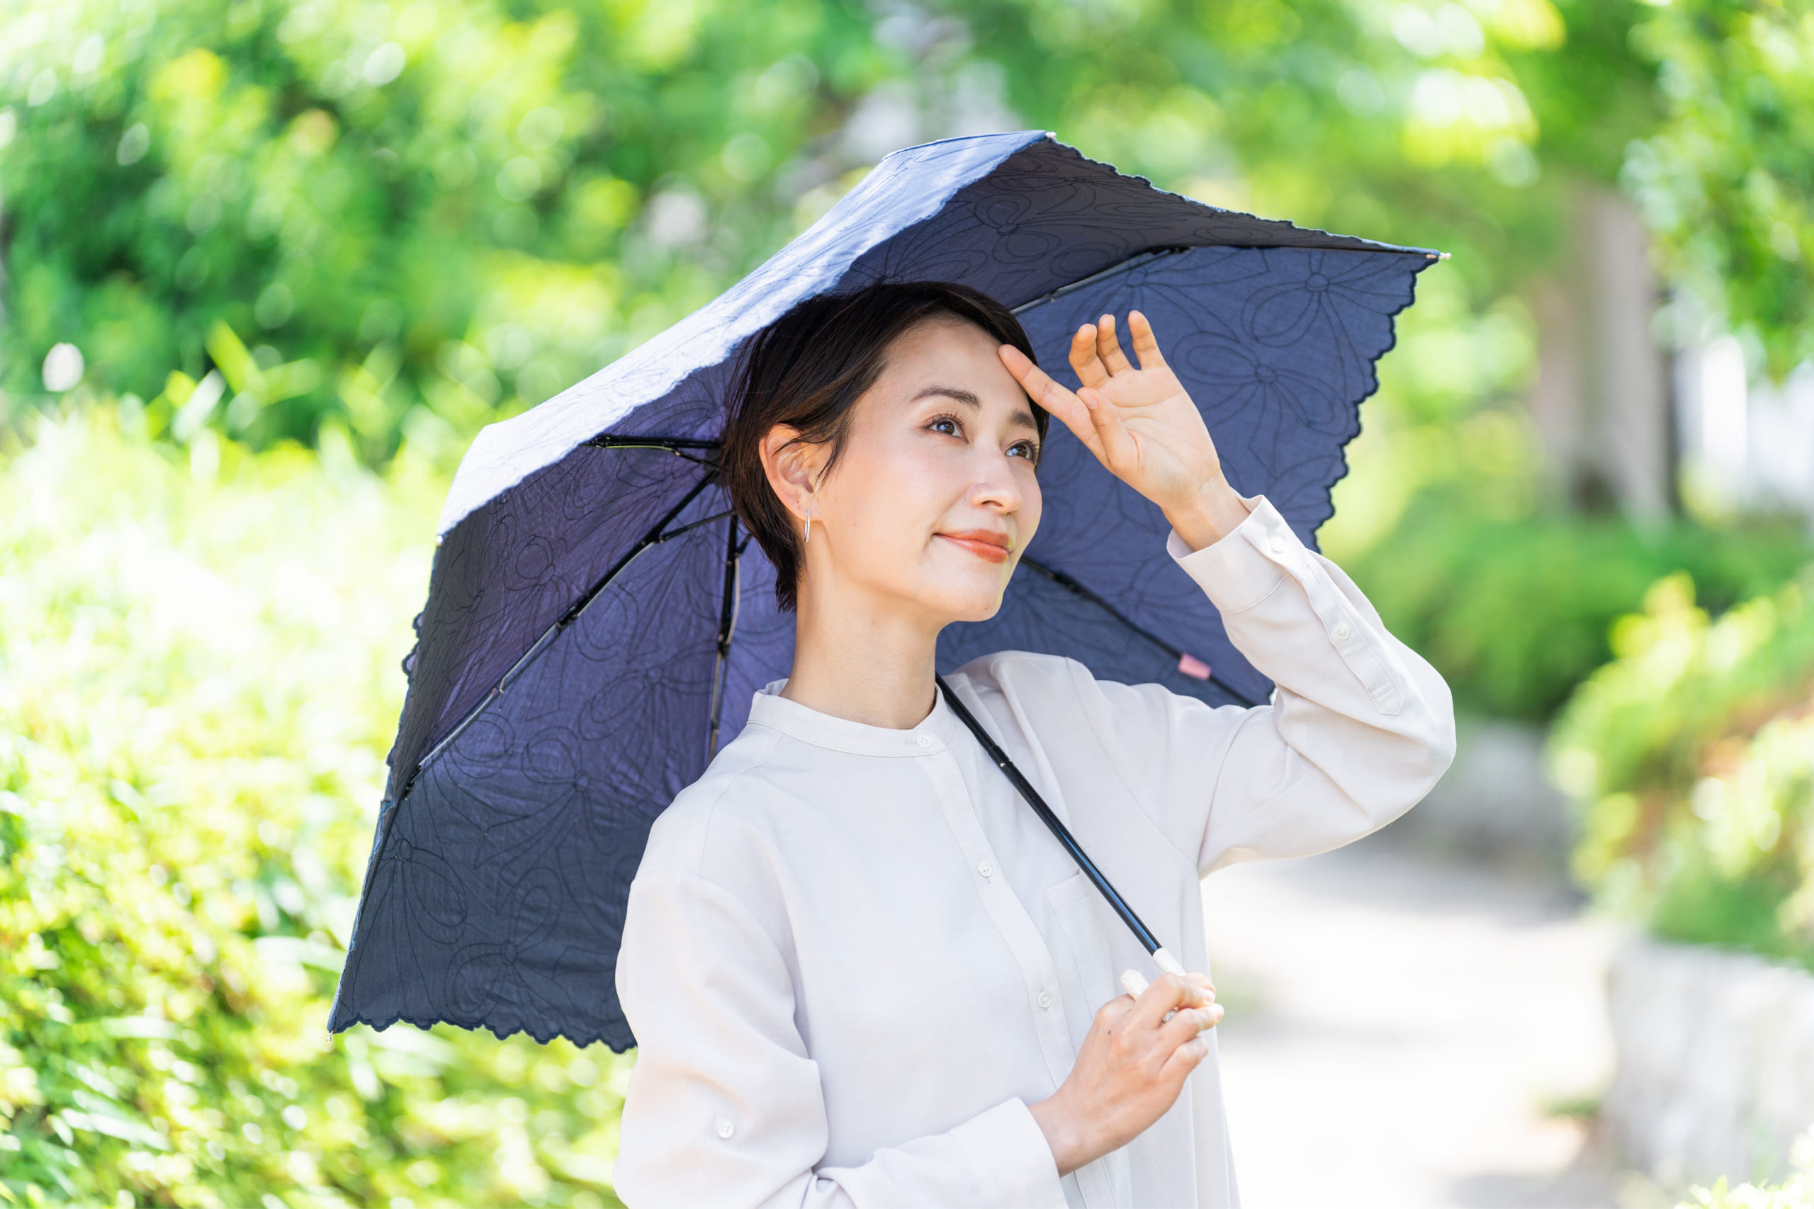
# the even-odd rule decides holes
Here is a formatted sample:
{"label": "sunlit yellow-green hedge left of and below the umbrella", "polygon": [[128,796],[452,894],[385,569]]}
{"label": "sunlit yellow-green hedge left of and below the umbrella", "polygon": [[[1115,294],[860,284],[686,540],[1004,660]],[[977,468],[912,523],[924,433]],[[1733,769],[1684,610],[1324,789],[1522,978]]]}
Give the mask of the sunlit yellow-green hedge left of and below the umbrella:
{"label": "sunlit yellow-green hedge left of and below the umbrella", "polygon": [[439,477],[0,462],[0,1202],[615,1204],[628,1059],[327,1033]]}

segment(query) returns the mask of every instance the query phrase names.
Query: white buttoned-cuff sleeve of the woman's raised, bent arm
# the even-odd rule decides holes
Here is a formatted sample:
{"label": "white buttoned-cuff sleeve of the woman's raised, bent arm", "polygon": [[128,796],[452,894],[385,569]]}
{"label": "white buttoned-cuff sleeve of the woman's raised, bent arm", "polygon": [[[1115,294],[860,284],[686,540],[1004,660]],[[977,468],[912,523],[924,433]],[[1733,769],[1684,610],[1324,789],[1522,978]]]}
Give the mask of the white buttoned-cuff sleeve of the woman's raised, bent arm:
{"label": "white buttoned-cuff sleeve of the woman's raised, bent arm", "polygon": [[1270,500],[1244,498],[1248,518],[1219,542],[1192,553],[1174,533],[1168,551],[1277,685],[1273,700],[1210,707],[1161,685],[1079,685],[1119,776],[1201,874],[1359,839],[1455,756],[1442,676]]}

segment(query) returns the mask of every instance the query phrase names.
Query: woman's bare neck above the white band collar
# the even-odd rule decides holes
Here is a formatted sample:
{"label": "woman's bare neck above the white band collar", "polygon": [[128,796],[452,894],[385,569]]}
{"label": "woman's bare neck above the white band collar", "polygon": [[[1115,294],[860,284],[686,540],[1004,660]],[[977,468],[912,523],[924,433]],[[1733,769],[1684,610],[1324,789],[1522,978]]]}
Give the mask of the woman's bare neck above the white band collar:
{"label": "woman's bare neck above the white band collar", "polygon": [[795,662],[782,696],[833,718],[907,730],[932,712],[938,629],[863,593],[800,585]]}

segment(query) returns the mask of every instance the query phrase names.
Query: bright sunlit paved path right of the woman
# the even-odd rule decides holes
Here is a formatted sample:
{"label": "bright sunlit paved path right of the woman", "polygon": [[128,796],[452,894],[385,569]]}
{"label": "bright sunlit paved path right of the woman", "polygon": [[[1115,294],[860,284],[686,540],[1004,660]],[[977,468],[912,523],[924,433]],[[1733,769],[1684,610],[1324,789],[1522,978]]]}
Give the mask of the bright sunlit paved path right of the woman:
{"label": "bright sunlit paved path right of the woman", "polygon": [[1616,1204],[1555,1113],[1611,1075],[1613,933],[1565,890],[1380,836],[1204,897],[1250,1209]]}

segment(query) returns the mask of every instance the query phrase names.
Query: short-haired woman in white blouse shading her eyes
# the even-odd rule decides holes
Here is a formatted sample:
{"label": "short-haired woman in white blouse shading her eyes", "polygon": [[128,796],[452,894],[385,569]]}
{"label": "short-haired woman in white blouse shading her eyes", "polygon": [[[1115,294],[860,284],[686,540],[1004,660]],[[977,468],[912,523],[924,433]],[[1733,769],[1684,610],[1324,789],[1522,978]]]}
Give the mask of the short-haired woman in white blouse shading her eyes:
{"label": "short-haired woman in white blouse shading her eyes", "polygon": [[1112,315],[1078,330],[1072,393],[998,303],[878,285],[746,355],[724,475],[796,609],[795,663],[631,885],[626,1204],[1237,1204],[1210,981],[1116,995],[1150,962],[938,694],[938,633],[1000,607],[1048,413],[1163,509],[1272,703],[1016,651],[947,680],[1195,970],[1204,874],[1397,817],[1453,714],[1353,582],[1235,495],[1139,312],[1128,330],[1137,366]]}

